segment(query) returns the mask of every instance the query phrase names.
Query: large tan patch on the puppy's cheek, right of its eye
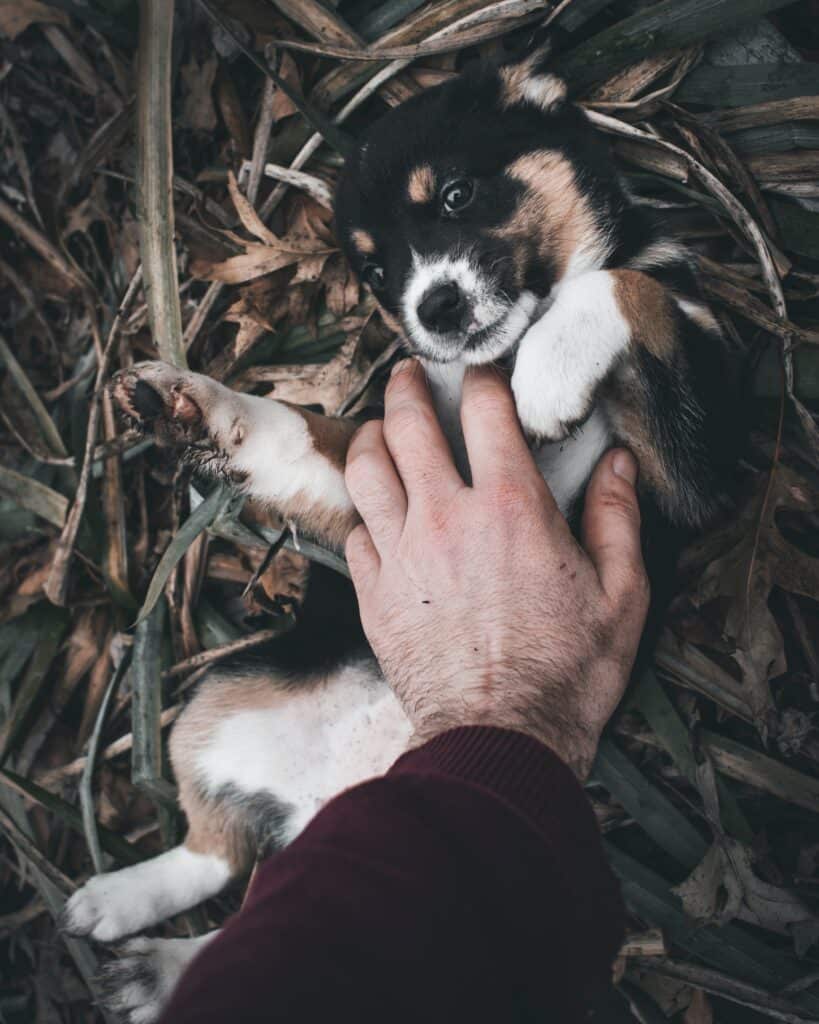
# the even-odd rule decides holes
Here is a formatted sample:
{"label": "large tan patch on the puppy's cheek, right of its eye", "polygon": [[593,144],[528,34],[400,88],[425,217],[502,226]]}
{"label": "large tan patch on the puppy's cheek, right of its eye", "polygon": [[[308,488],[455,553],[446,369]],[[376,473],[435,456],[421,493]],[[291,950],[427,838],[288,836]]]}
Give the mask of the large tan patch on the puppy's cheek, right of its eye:
{"label": "large tan patch on the puppy's cheek, right of its eye", "polygon": [[520,157],[507,174],[526,191],[512,219],[497,233],[512,241],[519,275],[534,245],[541,257],[555,264],[556,278],[562,278],[578,248],[600,245],[601,232],[577,187],[574,168],[561,153],[540,150]]}

